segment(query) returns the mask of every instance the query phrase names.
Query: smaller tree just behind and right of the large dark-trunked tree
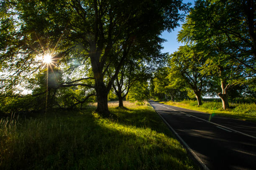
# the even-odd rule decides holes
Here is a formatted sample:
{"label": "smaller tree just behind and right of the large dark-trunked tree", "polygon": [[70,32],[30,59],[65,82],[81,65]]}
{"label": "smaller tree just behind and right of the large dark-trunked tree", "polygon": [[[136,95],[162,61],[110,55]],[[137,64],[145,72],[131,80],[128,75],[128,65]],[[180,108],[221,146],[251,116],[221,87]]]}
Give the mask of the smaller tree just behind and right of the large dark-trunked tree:
{"label": "smaller tree just behind and right of the large dark-trunked tree", "polygon": [[[113,92],[118,96],[119,107],[123,107],[123,99],[132,85],[137,81],[148,80],[155,65],[165,58],[165,54],[161,54],[161,45],[156,42],[163,42],[163,39],[156,37],[150,42],[144,42],[142,46],[136,44],[131,48],[129,57],[113,83]],[[115,62],[112,62],[113,64]]]}

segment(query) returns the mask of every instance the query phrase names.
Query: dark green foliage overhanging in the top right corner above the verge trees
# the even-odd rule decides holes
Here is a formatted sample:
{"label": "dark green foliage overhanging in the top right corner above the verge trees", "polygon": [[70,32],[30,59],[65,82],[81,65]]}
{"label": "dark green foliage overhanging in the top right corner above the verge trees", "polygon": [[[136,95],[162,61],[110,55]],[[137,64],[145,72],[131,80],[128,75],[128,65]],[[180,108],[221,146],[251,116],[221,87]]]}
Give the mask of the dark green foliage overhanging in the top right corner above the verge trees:
{"label": "dark green foliage overhanging in the top right corner above the verge trees", "polygon": [[179,41],[218,50],[255,73],[254,0],[197,0],[179,32]]}

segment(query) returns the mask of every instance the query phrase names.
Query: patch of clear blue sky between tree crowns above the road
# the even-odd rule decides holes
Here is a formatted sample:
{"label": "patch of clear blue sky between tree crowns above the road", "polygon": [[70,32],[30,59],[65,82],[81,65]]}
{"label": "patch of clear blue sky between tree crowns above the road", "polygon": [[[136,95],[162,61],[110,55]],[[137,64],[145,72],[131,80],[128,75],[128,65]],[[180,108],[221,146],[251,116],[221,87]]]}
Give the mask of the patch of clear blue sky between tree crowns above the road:
{"label": "patch of clear blue sky between tree crowns above the road", "polygon": [[[194,0],[183,0],[183,2],[184,3],[190,2],[192,3],[191,6],[193,6],[194,4]],[[174,51],[177,51],[179,46],[184,45],[181,42],[177,41],[177,34],[182,29],[182,22],[179,22],[179,24],[180,24],[180,27],[174,28],[174,31],[172,32],[164,31],[162,33],[161,37],[166,40],[166,42],[162,44],[164,47],[162,52],[169,52],[169,54],[172,54]]]}

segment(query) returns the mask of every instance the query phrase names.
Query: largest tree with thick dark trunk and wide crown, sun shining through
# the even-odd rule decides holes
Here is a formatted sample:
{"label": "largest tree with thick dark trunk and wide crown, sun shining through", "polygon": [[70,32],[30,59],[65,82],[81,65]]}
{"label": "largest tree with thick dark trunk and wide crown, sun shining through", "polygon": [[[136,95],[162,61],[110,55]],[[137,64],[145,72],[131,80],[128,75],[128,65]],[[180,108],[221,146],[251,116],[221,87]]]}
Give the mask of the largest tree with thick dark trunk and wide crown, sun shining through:
{"label": "largest tree with thick dark trunk and wide crown, sun shining through", "polygon": [[[83,69],[84,74],[64,81],[59,87],[84,86],[95,89],[97,109],[108,116],[108,92],[123,66],[128,54],[136,44],[159,39],[165,29],[171,30],[178,25],[184,14],[178,10],[187,10],[181,0],[35,0],[27,3],[22,0],[10,0],[17,11],[20,21],[20,37],[17,45],[10,44],[3,55],[12,53],[17,58],[21,54],[20,66],[29,56],[34,62],[41,53],[51,53],[56,66],[66,71]],[[142,33],[143,32],[143,33]],[[160,41],[152,41],[156,44]],[[119,46],[122,55],[113,47]],[[10,49],[13,47],[13,51]],[[146,46],[144,46],[147,48]],[[143,47],[143,48],[144,48]],[[70,60],[76,60],[77,66],[71,67]],[[111,62],[116,61],[110,72]],[[27,61],[25,60],[27,63]],[[31,65],[30,65],[31,66]],[[13,65],[6,68],[10,69]],[[38,66],[39,67],[39,66]],[[35,67],[34,67],[35,68]],[[87,72],[92,71],[92,77]],[[27,75],[27,74],[26,74]],[[28,77],[27,77],[28,78]],[[91,79],[94,85],[83,80]]]}

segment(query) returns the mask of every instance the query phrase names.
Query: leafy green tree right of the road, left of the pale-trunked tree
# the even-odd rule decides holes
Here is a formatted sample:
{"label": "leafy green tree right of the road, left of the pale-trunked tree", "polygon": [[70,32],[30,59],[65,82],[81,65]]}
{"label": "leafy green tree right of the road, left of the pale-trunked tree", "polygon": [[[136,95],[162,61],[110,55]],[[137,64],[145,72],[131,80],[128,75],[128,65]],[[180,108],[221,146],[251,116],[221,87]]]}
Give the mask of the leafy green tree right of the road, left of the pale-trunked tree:
{"label": "leafy green tree right of the road, left of the pale-trunked tree", "polygon": [[193,46],[179,47],[169,61],[168,78],[171,87],[193,90],[198,105],[202,105],[201,95],[207,85],[207,77],[200,73],[204,64],[204,55]]}

